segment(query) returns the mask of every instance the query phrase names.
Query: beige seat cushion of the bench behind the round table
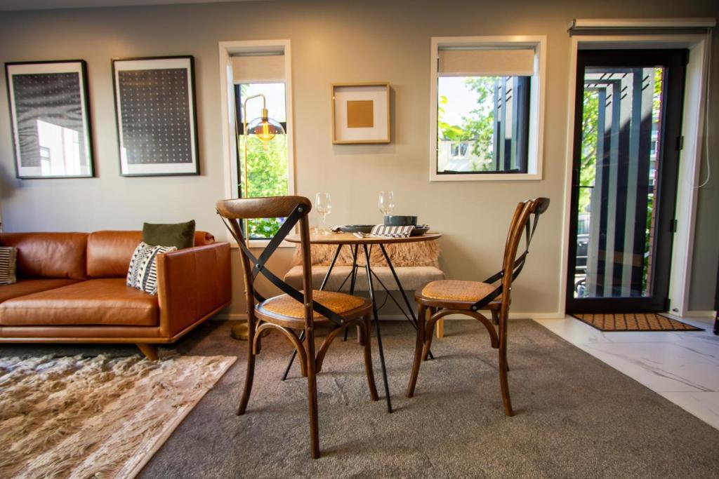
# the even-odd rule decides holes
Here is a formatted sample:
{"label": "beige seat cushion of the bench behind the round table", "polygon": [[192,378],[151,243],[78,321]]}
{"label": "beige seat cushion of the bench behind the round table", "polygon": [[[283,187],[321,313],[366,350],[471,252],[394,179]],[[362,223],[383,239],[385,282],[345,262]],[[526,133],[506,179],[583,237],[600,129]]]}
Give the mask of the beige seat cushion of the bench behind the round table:
{"label": "beige seat cushion of the bench behind the round table", "polygon": [[[329,266],[312,266],[312,287],[319,288],[324,279],[324,275],[327,273]],[[337,291],[339,285],[342,284],[345,278],[349,275],[349,271],[352,271],[352,266],[334,266],[332,274],[327,280],[325,289],[328,291]],[[372,272],[377,274],[377,277],[381,282],[390,289],[390,291],[397,291],[397,283],[392,276],[388,266],[377,266],[372,267]],[[414,291],[421,289],[425,284],[439,279],[444,279],[444,273],[441,269],[437,269],[434,266],[397,266],[395,272],[402,283],[402,288],[405,291]],[[296,289],[302,289],[302,266],[293,266],[290,271],[285,274],[285,282],[291,287]],[[372,286],[375,287],[375,291],[382,289],[382,285],[377,279],[373,278]],[[365,269],[360,268],[357,270],[357,280],[354,283],[354,291],[367,291],[367,274]],[[342,291],[349,291],[349,279],[344,282]]]}

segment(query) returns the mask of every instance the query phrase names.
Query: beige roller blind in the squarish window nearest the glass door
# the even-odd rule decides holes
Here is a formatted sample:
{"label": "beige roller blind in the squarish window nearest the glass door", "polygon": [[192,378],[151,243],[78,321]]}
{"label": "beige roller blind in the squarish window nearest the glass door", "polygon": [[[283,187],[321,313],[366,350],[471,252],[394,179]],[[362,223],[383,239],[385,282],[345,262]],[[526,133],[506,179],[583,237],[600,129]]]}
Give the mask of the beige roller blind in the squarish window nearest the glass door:
{"label": "beige roller blind in the squarish window nearest the glass door", "polygon": [[534,50],[439,50],[441,76],[531,76]]}

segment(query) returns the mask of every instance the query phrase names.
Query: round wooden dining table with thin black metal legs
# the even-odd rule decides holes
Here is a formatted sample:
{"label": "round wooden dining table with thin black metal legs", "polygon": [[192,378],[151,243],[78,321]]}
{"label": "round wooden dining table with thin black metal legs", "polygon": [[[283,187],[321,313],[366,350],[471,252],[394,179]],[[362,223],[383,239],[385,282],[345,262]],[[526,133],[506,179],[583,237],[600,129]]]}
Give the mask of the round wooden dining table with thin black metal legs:
{"label": "round wooden dining table with thin black metal legs", "polygon": [[[397,288],[402,295],[405,305],[408,310],[408,315],[405,314],[405,316],[408,318],[408,320],[411,322],[411,324],[416,328],[417,323],[417,317],[414,313],[414,308],[412,307],[412,304],[407,297],[407,294],[402,287],[402,283],[400,282],[399,277],[397,276],[397,272],[395,271],[395,268],[392,264],[392,261],[390,259],[390,256],[387,254],[387,250],[385,249],[386,244],[398,244],[398,243],[418,243],[421,241],[434,241],[436,239],[441,238],[441,233],[424,233],[423,235],[418,236],[408,236],[408,237],[391,237],[391,236],[371,236],[367,234],[355,234],[355,233],[329,233],[329,234],[313,234],[310,236],[310,243],[311,244],[326,244],[326,245],[336,245],[336,251],[334,252],[334,256],[332,257],[332,261],[329,264],[329,268],[327,269],[327,272],[324,276],[324,279],[322,280],[322,283],[319,287],[319,289],[324,289],[324,287],[327,284],[327,280],[329,279],[329,276],[332,272],[332,269],[334,268],[334,264],[337,261],[337,258],[339,257],[340,251],[342,251],[342,247],[347,245],[352,250],[352,271],[350,271],[350,276],[348,276],[349,282],[349,294],[354,294],[354,284],[357,279],[357,268],[361,266],[357,266],[357,259],[359,257],[359,248],[362,248],[362,251],[365,253],[365,258],[367,259],[365,261],[365,272],[367,274],[367,287],[369,289],[370,293],[370,302],[372,302],[372,315],[375,320],[375,330],[377,331],[377,348],[380,350],[380,365],[382,366],[382,378],[385,383],[385,399],[387,401],[387,411],[392,412],[392,400],[390,398],[390,387],[387,381],[387,367],[385,366],[385,353],[382,348],[382,334],[380,332],[380,321],[379,316],[377,315],[377,301],[375,299],[375,288],[374,288],[374,282],[372,281],[372,265],[370,264],[370,248],[372,246],[377,245],[380,247],[380,250],[382,251],[383,256],[385,257],[385,261],[387,261],[387,266],[389,266],[389,269],[392,273],[393,278],[395,279],[395,282],[397,284]],[[300,243],[300,236],[299,235],[288,235],[285,238],[285,241],[288,241],[289,243]],[[344,284],[344,283],[343,283]],[[342,287],[340,287],[342,289]],[[388,294],[390,292],[388,291]],[[391,297],[391,294],[390,294]],[[394,299],[394,298],[393,298]],[[396,301],[395,301],[396,303]],[[399,303],[397,303],[399,305]],[[401,310],[401,307],[400,307]],[[404,312],[403,312],[404,313]],[[347,339],[347,330],[344,332],[345,339]],[[290,359],[290,363],[288,364],[287,368],[285,369],[285,374],[283,376],[283,380],[287,377],[288,372],[290,371],[290,367],[292,366],[292,362],[294,361],[296,352],[293,353],[292,358]],[[431,352],[430,352],[431,355]]]}

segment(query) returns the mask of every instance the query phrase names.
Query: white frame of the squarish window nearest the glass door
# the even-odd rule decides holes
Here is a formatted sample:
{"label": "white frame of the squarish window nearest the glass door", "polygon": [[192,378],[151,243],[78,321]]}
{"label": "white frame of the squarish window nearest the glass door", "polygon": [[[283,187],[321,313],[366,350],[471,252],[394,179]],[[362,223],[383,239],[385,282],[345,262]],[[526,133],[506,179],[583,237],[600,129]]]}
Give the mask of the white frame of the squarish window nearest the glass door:
{"label": "white frame of the squarish window nearest the glass door", "polygon": [[[529,96],[529,134],[526,173],[454,173],[437,172],[437,80],[439,78],[439,50],[441,48],[534,50],[534,74]],[[546,35],[492,37],[431,37],[429,99],[429,181],[526,181],[542,179],[544,138],[544,93],[546,80]]]}

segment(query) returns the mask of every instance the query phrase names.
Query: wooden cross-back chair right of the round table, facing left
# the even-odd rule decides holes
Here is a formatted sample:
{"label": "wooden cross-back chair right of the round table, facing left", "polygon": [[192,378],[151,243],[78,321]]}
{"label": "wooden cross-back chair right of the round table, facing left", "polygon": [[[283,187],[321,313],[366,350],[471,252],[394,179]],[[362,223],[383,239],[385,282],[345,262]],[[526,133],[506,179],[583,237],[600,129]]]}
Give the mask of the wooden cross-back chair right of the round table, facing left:
{"label": "wooden cross-back chair right of the round table, facing left", "polygon": [[[414,395],[419,367],[426,361],[427,353],[432,344],[432,331],[437,321],[446,315],[461,314],[474,318],[487,328],[490,343],[499,350],[499,378],[502,391],[502,402],[505,414],[513,416],[512,403],[509,397],[508,364],[507,364],[507,317],[512,282],[522,271],[529,254],[529,243],[536,230],[539,215],[549,208],[549,198],[539,197],[526,200],[517,205],[510,223],[502,262],[502,269],[483,282],[441,280],[434,281],[416,292],[415,299],[419,304],[417,342],[414,352],[414,363],[407,397]],[[533,221],[531,216],[533,215]],[[525,248],[517,256],[519,242],[525,236]],[[497,284],[498,283],[498,284]],[[492,322],[480,310],[492,313]],[[429,320],[427,315],[430,315]],[[498,329],[495,330],[495,325]],[[436,351],[435,351],[436,353]]]}

